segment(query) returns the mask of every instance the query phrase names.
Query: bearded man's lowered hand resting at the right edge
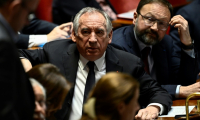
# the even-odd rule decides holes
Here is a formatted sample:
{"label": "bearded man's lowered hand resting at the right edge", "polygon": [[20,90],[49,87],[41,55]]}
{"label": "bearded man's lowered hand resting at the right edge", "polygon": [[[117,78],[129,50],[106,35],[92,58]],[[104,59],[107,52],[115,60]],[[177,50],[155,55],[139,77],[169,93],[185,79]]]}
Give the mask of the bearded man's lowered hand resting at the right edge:
{"label": "bearded man's lowered hand resting at the right edge", "polygon": [[181,86],[179,92],[179,98],[186,98],[191,93],[200,92],[200,82],[196,82],[189,86]]}

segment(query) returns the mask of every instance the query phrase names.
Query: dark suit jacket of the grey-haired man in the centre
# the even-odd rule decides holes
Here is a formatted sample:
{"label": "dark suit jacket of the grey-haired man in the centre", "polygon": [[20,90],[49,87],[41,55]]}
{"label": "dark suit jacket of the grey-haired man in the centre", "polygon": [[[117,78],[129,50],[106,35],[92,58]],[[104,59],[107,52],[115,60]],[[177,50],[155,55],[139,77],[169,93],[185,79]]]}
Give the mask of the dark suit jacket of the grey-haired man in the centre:
{"label": "dark suit jacket of the grey-haired man in the centre", "polygon": [[[58,47],[59,46],[59,47]],[[65,75],[67,80],[74,83],[77,75],[79,52],[76,44],[71,40],[52,41],[39,50],[20,50],[21,56],[28,58],[33,65],[39,63],[52,63]],[[172,101],[171,96],[162,89],[155,80],[144,72],[141,60],[124,51],[108,46],[106,50],[106,72],[125,72],[137,78],[140,82],[140,104],[161,103],[167,113]],[[57,113],[57,119],[67,119],[73,98],[73,89],[68,93],[62,110]]]}

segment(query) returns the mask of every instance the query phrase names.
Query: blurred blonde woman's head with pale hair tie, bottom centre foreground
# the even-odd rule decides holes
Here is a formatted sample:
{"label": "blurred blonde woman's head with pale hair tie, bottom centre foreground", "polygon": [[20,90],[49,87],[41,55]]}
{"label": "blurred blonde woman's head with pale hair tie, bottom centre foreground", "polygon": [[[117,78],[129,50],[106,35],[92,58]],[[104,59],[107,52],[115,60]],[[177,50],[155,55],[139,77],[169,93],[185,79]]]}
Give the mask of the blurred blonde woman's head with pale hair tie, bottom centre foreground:
{"label": "blurred blonde woman's head with pale hair tie, bottom centre foreground", "polygon": [[138,104],[139,83],[128,74],[111,72],[90,92],[81,120],[133,120]]}

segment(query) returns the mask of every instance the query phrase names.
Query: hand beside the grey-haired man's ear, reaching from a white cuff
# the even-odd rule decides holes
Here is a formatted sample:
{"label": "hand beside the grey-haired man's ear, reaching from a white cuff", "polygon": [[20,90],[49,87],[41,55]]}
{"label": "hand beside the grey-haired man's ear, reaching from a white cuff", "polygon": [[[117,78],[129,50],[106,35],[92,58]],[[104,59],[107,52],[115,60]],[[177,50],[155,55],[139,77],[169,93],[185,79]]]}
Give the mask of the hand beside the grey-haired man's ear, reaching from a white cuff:
{"label": "hand beside the grey-haired man's ear, reaching from a white cuff", "polygon": [[71,35],[72,29],[72,22],[57,26],[47,35],[47,41],[50,42],[53,40],[67,39]]}

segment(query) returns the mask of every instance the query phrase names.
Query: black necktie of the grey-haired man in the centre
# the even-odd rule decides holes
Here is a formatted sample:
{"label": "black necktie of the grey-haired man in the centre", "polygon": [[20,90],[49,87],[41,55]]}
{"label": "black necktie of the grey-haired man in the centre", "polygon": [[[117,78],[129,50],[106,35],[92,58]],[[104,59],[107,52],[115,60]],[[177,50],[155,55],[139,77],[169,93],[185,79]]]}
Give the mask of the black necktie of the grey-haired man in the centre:
{"label": "black necktie of the grey-haired man in the centre", "polygon": [[90,92],[93,85],[95,84],[94,65],[95,65],[95,63],[92,62],[92,61],[89,61],[87,63],[87,66],[89,67],[89,73],[88,73],[86,84],[85,84],[85,92],[84,92],[83,103],[85,103],[87,96],[88,96],[88,93]]}

